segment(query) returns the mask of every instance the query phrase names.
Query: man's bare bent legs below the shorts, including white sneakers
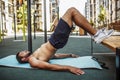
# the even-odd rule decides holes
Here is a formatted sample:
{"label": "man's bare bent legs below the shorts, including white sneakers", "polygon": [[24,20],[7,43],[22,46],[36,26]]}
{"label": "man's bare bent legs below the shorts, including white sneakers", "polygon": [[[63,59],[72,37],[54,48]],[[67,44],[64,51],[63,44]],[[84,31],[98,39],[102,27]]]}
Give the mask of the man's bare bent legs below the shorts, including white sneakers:
{"label": "man's bare bent legs below the shorts, including white sneakers", "polygon": [[92,35],[92,38],[96,43],[101,43],[104,39],[108,38],[112,35],[114,30],[95,30],[92,28],[90,23],[86,20],[86,18],[75,8],[70,8],[63,15],[62,19],[68,23],[69,26],[72,26],[73,22],[87,31]]}

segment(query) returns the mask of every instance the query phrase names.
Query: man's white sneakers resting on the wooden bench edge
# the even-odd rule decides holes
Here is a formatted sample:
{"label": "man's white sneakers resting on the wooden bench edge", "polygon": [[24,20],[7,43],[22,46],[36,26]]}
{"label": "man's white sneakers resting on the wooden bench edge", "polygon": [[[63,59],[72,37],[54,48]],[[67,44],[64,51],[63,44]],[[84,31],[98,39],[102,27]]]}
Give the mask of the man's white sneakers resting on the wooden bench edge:
{"label": "man's white sneakers resting on the wooden bench edge", "polygon": [[112,33],[114,32],[113,29],[106,30],[106,29],[100,29],[94,36],[93,39],[96,43],[101,43],[104,39],[110,37]]}

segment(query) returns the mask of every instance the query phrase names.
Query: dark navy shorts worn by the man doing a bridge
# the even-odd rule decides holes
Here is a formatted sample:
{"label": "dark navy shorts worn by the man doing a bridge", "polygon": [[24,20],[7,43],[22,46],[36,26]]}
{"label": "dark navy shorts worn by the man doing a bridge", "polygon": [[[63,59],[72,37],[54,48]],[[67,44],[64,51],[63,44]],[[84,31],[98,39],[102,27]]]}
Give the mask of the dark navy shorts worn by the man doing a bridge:
{"label": "dark navy shorts worn by the man doing a bridge", "polygon": [[60,19],[54,33],[49,38],[49,42],[54,48],[63,48],[69,38],[72,27],[70,27],[62,18]]}

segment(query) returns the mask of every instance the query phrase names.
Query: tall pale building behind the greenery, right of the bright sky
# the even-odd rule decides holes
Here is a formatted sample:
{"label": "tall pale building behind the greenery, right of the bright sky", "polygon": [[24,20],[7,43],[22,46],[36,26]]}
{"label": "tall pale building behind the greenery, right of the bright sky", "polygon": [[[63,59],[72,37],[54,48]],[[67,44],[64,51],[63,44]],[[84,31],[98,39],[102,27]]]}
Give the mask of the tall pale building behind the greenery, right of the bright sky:
{"label": "tall pale building behind the greenery, right of the bright sky", "polygon": [[[120,0],[87,0],[85,13],[86,18],[94,23],[95,28],[109,27],[111,23],[120,22]],[[100,16],[104,18],[104,23],[101,25]]]}

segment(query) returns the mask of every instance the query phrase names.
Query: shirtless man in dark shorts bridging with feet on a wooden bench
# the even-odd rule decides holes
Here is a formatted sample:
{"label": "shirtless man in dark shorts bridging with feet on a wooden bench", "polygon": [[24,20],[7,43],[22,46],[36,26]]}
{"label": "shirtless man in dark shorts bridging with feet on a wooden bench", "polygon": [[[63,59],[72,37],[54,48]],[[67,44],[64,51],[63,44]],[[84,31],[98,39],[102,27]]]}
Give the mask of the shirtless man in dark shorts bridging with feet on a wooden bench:
{"label": "shirtless man in dark shorts bridging with feet on a wooden bench", "polygon": [[107,31],[105,29],[96,31],[92,28],[84,16],[82,16],[77,9],[72,7],[69,8],[67,12],[62,16],[48,42],[41,45],[41,47],[35,50],[31,55],[29,55],[29,51],[19,52],[16,55],[17,60],[20,63],[29,62],[30,65],[34,68],[69,71],[77,75],[84,74],[84,71],[82,71],[80,68],[48,63],[51,58],[78,57],[74,54],[55,54],[57,49],[63,48],[67,43],[73,22],[91,34],[94,41],[97,43],[100,43],[106,37],[110,36],[113,32],[113,30]]}

